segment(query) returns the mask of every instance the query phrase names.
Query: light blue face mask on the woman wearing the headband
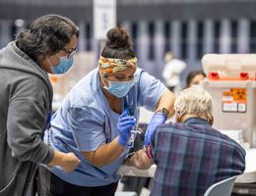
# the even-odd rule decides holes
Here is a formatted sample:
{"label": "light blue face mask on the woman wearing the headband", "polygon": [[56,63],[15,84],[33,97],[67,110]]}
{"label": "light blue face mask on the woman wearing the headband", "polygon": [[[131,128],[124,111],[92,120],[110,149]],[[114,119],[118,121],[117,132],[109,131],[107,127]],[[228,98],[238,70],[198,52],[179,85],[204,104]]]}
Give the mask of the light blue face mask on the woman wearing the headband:
{"label": "light blue face mask on the woman wearing the headband", "polygon": [[135,79],[129,80],[129,81],[110,81],[106,79],[109,82],[109,87],[104,88],[111,93],[112,95],[121,98],[124,97],[131,87],[135,84]]}

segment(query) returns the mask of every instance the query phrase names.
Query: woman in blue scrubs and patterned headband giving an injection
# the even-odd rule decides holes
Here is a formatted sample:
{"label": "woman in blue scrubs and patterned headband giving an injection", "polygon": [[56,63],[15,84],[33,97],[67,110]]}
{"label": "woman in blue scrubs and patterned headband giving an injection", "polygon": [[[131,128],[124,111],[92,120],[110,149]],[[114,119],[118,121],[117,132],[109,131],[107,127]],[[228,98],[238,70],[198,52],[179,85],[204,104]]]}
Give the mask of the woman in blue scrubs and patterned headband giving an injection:
{"label": "woman in blue scrubs and patterned headband giving an injection", "polygon": [[41,167],[39,195],[114,195],[120,177],[116,171],[129,151],[139,108],[156,111],[146,145],[156,127],[173,114],[173,94],[137,68],[127,31],[114,27],[106,36],[97,68],[69,92],[44,135],[51,147],[74,152],[82,163],[68,174]]}

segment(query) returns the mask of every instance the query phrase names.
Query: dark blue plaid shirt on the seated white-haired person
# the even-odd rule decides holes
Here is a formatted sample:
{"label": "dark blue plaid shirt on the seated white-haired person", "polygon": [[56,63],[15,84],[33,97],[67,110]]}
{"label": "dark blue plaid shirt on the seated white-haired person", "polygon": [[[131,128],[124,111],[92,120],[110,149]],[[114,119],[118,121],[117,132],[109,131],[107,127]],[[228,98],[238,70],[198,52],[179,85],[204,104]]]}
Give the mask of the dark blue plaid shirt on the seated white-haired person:
{"label": "dark blue plaid shirt on the seated white-haired person", "polygon": [[203,119],[161,125],[154,143],[154,196],[203,196],[215,182],[245,169],[244,149]]}

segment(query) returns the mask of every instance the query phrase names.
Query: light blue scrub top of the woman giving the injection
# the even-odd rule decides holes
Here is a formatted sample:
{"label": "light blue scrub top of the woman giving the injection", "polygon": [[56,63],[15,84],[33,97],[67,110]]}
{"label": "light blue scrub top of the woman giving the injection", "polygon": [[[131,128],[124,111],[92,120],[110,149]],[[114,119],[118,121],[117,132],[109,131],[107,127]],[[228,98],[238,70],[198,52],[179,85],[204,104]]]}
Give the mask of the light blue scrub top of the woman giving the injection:
{"label": "light blue scrub top of the woman giving the injection", "polygon": [[[153,111],[166,87],[149,73],[137,69],[136,84],[122,98],[139,123],[139,108]],[[123,106],[124,110],[124,106]],[[117,135],[119,114],[110,110],[99,85],[95,69],[81,79],[68,93],[51,120],[51,131],[44,133],[44,141],[61,152],[74,152],[82,164],[74,172],[64,172],[60,167],[49,169],[63,180],[80,186],[102,186],[119,179],[116,171],[125,159],[129,148],[111,164],[96,168],[80,153],[95,151],[100,145],[112,141]]]}

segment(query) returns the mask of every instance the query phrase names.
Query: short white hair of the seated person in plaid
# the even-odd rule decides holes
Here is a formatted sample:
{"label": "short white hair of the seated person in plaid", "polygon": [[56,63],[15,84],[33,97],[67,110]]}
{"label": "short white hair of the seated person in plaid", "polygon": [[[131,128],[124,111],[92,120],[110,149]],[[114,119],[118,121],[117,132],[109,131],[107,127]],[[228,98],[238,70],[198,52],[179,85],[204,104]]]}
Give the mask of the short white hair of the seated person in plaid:
{"label": "short white hair of the seated person in plaid", "polygon": [[180,118],[189,114],[213,123],[212,100],[212,96],[201,86],[192,86],[179,93],[174,102],[174,109]]}

